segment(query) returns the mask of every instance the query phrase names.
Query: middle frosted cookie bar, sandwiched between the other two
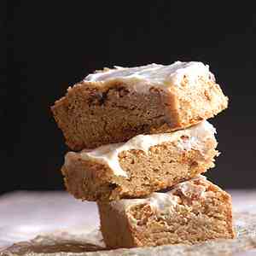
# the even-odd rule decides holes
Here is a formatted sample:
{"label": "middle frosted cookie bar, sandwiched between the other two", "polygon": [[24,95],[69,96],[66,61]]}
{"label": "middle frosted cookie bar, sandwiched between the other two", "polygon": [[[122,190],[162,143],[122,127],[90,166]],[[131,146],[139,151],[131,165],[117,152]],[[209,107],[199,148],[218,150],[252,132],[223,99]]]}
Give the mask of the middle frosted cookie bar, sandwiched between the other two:
{"label": "middle frosted cookie bar, sandwiched between the other two", "polygon": [[67,190],[88,201],[148,195],[213,167],[215,129],[207,121],[171,133],[138,135],[65,156]]}

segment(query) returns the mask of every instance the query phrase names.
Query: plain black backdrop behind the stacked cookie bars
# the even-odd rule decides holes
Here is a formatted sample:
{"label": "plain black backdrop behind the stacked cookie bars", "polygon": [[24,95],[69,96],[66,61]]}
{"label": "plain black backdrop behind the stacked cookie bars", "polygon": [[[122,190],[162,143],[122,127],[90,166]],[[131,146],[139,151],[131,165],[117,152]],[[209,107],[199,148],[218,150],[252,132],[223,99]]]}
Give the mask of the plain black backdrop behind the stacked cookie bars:
{"label": "plain black backdrop behind the stacked cookie bars", "polygon": [[222,154],[207,176],[224,188],[256,188],[256,10],[241,1],[173,3],[9,2],[0,193],[63,189],[67,147],[49,106],[67,86],[102,67],[177,60],[209,64],[230,97],[230,108],[211,119]]}

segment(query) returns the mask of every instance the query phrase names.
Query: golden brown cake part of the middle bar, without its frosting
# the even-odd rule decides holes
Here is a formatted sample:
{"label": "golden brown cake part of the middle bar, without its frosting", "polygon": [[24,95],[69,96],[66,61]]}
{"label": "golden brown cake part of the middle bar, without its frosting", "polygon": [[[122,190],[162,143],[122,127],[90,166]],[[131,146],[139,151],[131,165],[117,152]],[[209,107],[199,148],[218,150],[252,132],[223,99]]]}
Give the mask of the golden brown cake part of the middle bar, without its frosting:
{"label": "golden brown cake part of the middle bar, without its frosting", "polygon": [[119,154],[119,164],[128,177],[117,176],[107,164],[84,160],[69,153],[62,167],[67,191],[87,201],[135,198],[188,180],[214,166],[216,140],[207,139],[204,150],[180,150],[175,143],[151,147],[149,154],[128,150]]}

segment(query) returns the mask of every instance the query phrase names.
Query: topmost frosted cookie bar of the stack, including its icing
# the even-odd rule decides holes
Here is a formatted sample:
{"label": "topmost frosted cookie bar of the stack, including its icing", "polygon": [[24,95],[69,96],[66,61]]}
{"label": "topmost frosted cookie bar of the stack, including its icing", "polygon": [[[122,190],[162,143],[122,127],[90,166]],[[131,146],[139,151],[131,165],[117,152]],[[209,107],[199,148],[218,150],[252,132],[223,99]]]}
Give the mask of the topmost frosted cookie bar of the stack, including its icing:
{"label": "topmost frosted cookie bar of the stack, including its icing", "polygon": [[73,150],[189,127],[227,108],[201,62],[105,68],[68,88],[51,108]]}

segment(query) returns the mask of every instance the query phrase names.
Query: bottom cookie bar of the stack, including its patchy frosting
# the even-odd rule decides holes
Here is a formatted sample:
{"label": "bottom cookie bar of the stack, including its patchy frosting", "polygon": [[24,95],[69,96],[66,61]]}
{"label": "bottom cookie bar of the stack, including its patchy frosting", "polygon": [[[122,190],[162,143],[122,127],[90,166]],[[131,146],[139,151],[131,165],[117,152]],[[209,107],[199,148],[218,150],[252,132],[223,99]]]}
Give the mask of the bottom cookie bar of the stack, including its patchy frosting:
{"label": "bottom cookie bar of the stack, including its patchy frosting", "polygon": [[143,199],[98,202],[107,247],[194,244],[233,238],[230,195],[205,177]]}

